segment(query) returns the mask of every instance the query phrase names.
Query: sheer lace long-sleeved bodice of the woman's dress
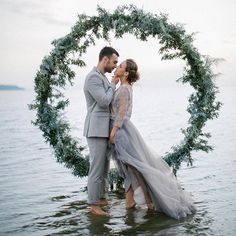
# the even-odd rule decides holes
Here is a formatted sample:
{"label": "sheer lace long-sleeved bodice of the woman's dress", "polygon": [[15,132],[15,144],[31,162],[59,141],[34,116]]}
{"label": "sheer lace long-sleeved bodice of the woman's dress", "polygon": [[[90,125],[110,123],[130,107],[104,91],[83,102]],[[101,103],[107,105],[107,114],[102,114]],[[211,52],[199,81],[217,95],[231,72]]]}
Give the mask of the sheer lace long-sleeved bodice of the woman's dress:
{"label": "sheer lace long-sleeved bodice of the woman's dress", "polygon": [[111,118],[114,120],[113,126],[121,127],[125,119],[130,119],[132,113],[132,86],[122,84],[115,91],[111,103]]}

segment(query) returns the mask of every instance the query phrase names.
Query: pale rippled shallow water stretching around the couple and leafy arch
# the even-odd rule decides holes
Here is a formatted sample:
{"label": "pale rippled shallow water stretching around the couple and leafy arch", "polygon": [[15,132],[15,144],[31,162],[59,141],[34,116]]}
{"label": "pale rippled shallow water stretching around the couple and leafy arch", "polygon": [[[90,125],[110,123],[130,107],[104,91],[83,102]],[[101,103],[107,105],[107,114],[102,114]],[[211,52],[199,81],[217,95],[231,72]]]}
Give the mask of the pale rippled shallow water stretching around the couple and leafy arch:
{"label": "pale rippled shallow water stretching around the couple and leafy arch", "polygon": [[[31,125],[27,104],[31,91],[0,91],[0,235],[235,235],[236,233],[236,96],[220,88],[224,103],[218,119],[209,121],[211,153],[193,153],[193,167],[183,164],[178,179],[194,196],[197,213],[177,221],[137,208],[126,210],[124,195],[110,192],[110,217],[89,214],[86,178],[71,175],[56,163],[53,150]],[[181,140],[187,125],[190,89],[134,88],[133,123],[160,154]],[[68,90],[65,116],[72,134],[81,138],[85,102],[81,88]]]}

